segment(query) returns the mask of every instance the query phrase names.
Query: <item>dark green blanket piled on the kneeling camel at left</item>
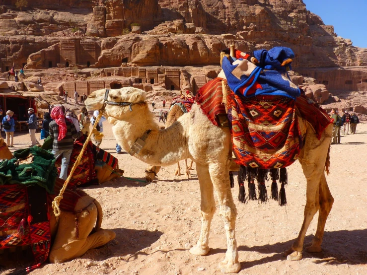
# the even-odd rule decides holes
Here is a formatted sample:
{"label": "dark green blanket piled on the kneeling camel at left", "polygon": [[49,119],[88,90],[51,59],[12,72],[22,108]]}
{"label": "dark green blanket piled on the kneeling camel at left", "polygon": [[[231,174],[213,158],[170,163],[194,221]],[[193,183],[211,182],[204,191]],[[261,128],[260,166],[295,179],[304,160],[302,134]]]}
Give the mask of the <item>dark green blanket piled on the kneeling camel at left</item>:
{"label": "dark green blanket piled on the kneeling camel at left", "polygon": [[[19,161],[33,157],[32,162],[19,164]],[[10,160],[0,162],[0,185],[5,184],[25,184],[39,185],[47,190],[48,193],[54,193],[54,185],[57,174],[55,167],[55,157],[52,153],[33,146],[27,149],[20,149],[14,152],[14,157]]]}

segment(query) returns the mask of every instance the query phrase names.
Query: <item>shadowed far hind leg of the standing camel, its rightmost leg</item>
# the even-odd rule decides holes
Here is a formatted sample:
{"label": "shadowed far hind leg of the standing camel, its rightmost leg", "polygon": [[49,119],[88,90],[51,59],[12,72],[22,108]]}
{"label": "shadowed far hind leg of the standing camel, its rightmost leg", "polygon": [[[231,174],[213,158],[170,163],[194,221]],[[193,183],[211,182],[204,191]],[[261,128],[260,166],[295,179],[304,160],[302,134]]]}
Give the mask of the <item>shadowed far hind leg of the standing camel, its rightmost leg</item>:
{"label": "shadowed far hind leg of the standing camel, its rightmost leg", "polygon": [[305,251],[307,252],[321,252],[322,237],[324,236],[326,219],[333,206],[334,198],[331,196],[329,186],[326,182],[325,174],[321,176],[320,187],[319,187],[319,215],[317,221],[316,234],[313,240],[309,244],[305,244]]}

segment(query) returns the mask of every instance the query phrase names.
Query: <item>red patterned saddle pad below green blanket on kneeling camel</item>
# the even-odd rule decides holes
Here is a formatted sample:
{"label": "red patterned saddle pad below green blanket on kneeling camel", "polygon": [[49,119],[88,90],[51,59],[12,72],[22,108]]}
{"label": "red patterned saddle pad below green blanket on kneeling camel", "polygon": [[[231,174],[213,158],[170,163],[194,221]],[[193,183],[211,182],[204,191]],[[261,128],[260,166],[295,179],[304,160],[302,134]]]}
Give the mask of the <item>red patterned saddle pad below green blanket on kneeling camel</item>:
{"label": "red patterned saddle pad below green blanket on kneeling camel", "polygon": [[31,245],[35,264],[47,260],[51,246],[46,189],[22,184],[0,186],[0,249]]}

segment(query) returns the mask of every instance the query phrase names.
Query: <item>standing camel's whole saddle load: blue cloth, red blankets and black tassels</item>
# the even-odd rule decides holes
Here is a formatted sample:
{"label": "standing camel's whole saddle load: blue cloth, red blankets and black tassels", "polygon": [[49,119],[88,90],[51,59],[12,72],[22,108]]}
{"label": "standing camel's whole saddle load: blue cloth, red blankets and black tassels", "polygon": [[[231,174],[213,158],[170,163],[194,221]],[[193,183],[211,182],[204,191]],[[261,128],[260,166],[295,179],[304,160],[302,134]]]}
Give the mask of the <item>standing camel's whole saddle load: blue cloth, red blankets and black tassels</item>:
{"label": "standing camel's whole saddle load: blue cloth, red blankets and black tassels", "polygon": [[[330,124],[325,111],[302,95],[289,79],[286,71],[294,57],[292,50],[276,48],[280,49],[250,54],[235,50],[234,58],[221,55],[219,77],[198,91],[196,102],[203,113],[214,125],[229,127],[233,160],[240,165],[241,203],[247,202],[246,180],[248,199],[268,201],[265,181],[270,178],[272,199],[286,205],[286,167],[297,159],[307,127],[323,131]],[[309,114],[314,114],[313,118]],[[318,138],[322,131],[317,133]]]}

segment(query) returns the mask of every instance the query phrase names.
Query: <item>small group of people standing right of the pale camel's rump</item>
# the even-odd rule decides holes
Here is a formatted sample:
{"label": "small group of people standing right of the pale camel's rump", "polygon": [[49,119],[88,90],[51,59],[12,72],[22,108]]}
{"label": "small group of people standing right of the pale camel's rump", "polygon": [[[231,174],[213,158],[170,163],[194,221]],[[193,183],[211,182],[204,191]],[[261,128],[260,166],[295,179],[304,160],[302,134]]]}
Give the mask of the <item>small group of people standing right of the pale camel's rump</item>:
{"label": "small group of people standing right of the pale camel's rump", "polygon": [[[339,111],[336,109],[331,110],[331,116],[334,121],[333,128],[333,139],[331,144],[340,143],[340,129],[343,127],[343,134],[349,135],[349,129],[351,134],[356,134],[357,124],[360,123],[360,120],[356,113],[349,114],[349,111],[345,111],[345,113],[340,116]],[[347,131],[347,133],[346,133]]]}

